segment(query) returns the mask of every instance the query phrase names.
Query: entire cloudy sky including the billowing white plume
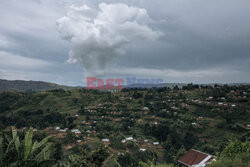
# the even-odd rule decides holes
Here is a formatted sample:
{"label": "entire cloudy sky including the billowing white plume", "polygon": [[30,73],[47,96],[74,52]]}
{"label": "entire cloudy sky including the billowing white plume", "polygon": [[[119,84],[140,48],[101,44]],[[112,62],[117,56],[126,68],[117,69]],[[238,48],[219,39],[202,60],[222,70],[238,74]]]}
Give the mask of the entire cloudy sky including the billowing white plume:
{"label": "entire cloudy sky including the billowing white plume", "polygon": [[8,0],[0,78],[250,82],[249,0]]}

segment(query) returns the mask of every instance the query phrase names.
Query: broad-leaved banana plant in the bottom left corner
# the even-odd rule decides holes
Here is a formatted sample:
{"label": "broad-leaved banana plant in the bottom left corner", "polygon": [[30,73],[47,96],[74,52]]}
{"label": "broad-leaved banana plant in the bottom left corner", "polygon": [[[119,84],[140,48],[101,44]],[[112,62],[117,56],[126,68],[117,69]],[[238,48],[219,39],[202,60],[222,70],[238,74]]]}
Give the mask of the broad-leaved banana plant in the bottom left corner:
{"label": "broad-leaved banana plant in the bottom left corner", "polygon": [[34,143],[33,128],[26,132],[23,141],[17,134],[16,129],[12,128],[12,138],[6,134],[0,136],[0,166],[47,166],[54,160],[51,159],[52,143],[48,142],[50,136],[42,141]]}

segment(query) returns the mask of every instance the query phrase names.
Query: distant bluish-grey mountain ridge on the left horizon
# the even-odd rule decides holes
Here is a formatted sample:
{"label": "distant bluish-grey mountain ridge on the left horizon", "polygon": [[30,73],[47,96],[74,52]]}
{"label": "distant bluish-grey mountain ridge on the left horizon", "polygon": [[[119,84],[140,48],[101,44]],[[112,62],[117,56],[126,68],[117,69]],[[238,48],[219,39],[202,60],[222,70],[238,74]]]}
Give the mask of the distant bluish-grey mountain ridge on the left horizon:
{"label": "distant bluish-grey mountain ridge on the left horizon", "polygon": [[0,79],[0,91],[47,91],[53,89],[73,89],[75,87],[58,85],[43,81],[23,81]]}

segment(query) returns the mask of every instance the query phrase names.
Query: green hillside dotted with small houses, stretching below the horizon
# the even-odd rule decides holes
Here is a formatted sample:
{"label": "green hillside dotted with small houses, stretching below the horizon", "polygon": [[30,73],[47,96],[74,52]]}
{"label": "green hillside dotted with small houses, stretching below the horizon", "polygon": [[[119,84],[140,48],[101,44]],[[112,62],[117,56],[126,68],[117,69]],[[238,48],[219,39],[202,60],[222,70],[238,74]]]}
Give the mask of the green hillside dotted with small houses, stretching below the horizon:
{"label": "green hillside dotted with small houses, stretching below the horizon", "polygon": [[36,166],[178,166],[194,148],[217,157],[211,166],[248,166],[249,89],[0,92],[1,163],[28,166],[28,157]]}

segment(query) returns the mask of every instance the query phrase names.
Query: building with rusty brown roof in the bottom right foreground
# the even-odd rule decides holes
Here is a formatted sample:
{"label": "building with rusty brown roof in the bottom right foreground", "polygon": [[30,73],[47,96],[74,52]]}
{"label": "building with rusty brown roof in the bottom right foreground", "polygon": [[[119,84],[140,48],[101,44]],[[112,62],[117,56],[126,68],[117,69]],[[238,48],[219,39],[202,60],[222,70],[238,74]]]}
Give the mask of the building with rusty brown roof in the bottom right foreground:
{"label": "building with rusty brown roof in the bottom right foreground", "polygon": [[215,157],[198,150],[191,149],[178,162],[183,167],[204,167],[215,160]]}

